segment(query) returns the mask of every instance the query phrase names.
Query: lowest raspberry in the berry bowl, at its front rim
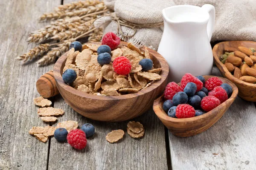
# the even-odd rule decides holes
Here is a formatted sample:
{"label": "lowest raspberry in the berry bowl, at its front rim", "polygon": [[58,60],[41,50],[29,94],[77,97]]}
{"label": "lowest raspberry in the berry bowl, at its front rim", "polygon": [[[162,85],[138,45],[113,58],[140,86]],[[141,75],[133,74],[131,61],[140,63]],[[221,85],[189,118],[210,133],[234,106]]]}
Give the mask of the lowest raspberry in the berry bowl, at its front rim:
{"label": "lowest raspberry in the berry bowl, at its front rim", "polygon": [[176,108],[176,117],[177,118],[189,118],[195,116],[195,109],[188,104],[178,105]]}

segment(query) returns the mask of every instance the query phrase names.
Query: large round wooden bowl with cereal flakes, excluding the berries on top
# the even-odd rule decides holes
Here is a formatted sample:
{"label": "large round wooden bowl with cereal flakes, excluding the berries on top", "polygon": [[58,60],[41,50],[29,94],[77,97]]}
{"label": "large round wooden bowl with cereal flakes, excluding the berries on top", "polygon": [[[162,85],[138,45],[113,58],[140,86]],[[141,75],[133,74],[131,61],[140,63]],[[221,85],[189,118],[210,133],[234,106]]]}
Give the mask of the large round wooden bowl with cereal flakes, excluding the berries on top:
{"label": "large round wooden bowl with cereal flakes, excluding the berries on top", "polygon": [[[90,61],[93,60],[100,43],[84,45],[80,54],[69,54],[68,51],[55,63],[53,73],[61,96],[76,112],[98,121],[121,122],[142,115],[164,91],[169,73],[166,60],[150,48],[137,49],[127,42],[121,42],[111,52],[112,57],[127,56],[132,64],[132,73],[118,75],[113,72],[113,66],[95,65],[95,58],[94,62],[85,63],[90,66],[83,69],[83,62],[88,58],[85,53],[92,50],[89,56]],[[69,59],[68,54],[71,56]],[[76,58],[72,59],[72,56]],[[150,58],[154,69],[150,72],[141,71],[138,66],[141,58]],[[70,62],[73,64],[68,65]],[[63,70],[67,68],[73,68],[79,75],[72,85],[62,79]]]}

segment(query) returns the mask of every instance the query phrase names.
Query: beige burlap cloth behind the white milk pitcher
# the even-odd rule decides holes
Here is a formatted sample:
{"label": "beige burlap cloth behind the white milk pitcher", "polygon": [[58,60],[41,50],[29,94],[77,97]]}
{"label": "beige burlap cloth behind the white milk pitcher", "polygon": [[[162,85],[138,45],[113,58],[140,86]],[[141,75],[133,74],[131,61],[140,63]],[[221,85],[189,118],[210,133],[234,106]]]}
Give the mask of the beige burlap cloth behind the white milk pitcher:
{"label": "beige burlap cloth behind the white milk pitcher", "polygon": [[[215,6],[215,28],[211,41],[252,40],[256,41],[256,0],[105,0],[108,8],[115,11],[116,17],[136,24],[163,22],[162,9],[174,5]],[[107,22],[106,22],[107,21]],[[96,23],[104,24],[104,34],[111,31],[117,34],[117,22],[110,17],[102,17]],[[134,30],[121,26],[124,35],[132,35]],[[157,50],[163,27],[138,28],[132,37],[119,36],[122,40],[137,46],[146,45]]]}

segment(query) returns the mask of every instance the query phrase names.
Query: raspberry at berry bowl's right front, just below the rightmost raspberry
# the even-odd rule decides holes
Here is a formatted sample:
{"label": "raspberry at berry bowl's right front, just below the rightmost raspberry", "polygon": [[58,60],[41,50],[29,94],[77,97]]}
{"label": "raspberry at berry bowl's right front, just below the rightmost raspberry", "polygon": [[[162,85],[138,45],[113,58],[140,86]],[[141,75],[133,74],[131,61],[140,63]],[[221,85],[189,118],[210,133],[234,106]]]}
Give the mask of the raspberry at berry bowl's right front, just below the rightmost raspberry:
{"label": "raspberry at berry bowl's right front, just below the rightmost raspberry", "polygon": [[211,111],[221,104],[221,101],[217,99],[215,96],[206,96],[201,100],[201,108],[204,111]]}

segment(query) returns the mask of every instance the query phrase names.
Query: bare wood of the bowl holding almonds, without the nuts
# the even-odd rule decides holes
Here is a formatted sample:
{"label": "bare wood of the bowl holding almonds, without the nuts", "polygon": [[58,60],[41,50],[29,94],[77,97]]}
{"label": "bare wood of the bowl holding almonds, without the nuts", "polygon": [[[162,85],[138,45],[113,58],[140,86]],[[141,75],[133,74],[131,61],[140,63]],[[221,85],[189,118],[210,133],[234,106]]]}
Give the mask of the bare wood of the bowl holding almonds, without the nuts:
{"label": "bare wood of the bowl holding almonds, without the nuts", "polygon": [[220,70],[221,74],[229,79],[231,82],[239,89],[239,96],[242,99],[247,101],[256,102],[256,84],[244,82],[236,77],[233,77],[232,74],[227,70],[224,64],[219,60],[221,54],[224,54],[224,49],[226,48],[236,48],[243,46],[246,48],[256,48],[256,42],[253,41],[225,41],[220,42],[214,46],[212,49],[214,61]]}

